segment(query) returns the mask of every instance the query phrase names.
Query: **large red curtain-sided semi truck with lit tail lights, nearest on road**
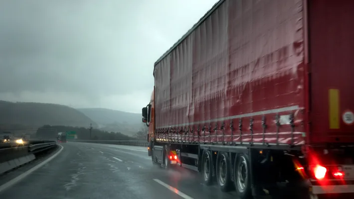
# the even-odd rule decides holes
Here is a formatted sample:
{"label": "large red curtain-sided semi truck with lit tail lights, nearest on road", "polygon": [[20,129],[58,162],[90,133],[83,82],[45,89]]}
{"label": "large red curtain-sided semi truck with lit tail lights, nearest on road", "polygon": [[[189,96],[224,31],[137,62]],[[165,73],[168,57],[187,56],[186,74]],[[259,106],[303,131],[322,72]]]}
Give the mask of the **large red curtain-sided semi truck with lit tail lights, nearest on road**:
{"label": "large red curtain-sided semi truck with lit tail lights, nearest on road", "polygon": [[279,184],[311,199],[354,193],[353,10],[218,1],[154,65],[142,111],[152,161],[241,199]]}

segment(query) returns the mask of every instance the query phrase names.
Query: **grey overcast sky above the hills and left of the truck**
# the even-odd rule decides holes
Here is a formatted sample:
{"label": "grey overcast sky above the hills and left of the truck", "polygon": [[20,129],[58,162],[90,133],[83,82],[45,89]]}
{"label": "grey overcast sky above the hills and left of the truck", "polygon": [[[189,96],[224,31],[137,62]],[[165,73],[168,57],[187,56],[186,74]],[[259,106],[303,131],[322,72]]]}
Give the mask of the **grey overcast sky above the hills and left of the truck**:
{"label": "grey overcast sky above the hills and left of the truck", "polygon": [[154,62],[217,0],[0,0],[0,100],[140,112]]}

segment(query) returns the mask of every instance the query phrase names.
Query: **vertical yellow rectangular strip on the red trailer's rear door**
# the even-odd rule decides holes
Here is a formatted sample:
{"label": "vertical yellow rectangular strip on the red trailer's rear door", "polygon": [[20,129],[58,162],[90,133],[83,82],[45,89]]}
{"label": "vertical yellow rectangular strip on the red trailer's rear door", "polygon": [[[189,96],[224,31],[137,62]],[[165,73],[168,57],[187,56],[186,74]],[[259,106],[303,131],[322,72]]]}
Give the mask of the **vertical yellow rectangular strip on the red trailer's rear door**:
{"label": "vertical yellow rectangular strip on the red trailer's rear door", "polygon": [[330,129],[340,128],[340,114],[339,114],[339,90],[329,89],[328,90],[328,115],[330,120]]}

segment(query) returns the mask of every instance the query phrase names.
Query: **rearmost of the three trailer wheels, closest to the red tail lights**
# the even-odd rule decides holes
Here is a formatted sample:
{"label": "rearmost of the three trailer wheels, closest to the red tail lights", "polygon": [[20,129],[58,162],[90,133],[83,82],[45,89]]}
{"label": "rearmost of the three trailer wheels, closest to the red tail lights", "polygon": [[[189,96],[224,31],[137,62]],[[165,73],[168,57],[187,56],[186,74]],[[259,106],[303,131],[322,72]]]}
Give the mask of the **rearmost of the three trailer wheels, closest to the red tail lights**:
{"label": "rearmost of the three trailer wheels, closest to the red tail lights", "polygon": [[234,183],[240,199],[251,198],[251,179],[249,158],[246,154],[241,154],[235,158],[234,162]]}

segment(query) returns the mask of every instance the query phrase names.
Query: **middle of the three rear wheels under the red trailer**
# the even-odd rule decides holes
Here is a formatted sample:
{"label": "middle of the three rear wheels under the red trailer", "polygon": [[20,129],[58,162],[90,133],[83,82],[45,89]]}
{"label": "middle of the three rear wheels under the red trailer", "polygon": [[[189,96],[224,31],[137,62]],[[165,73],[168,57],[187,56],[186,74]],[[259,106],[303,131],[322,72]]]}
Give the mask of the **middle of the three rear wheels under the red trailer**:
{"label": "middle of the three rear wheels under the red trailer", "polygon": [[225,152],[220,152],[216,158],[216,178],[222,192],[228,192],[231,190],[230,158]]}

